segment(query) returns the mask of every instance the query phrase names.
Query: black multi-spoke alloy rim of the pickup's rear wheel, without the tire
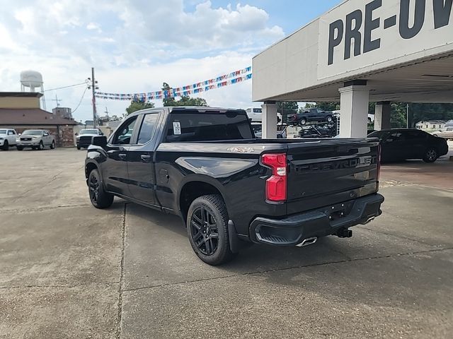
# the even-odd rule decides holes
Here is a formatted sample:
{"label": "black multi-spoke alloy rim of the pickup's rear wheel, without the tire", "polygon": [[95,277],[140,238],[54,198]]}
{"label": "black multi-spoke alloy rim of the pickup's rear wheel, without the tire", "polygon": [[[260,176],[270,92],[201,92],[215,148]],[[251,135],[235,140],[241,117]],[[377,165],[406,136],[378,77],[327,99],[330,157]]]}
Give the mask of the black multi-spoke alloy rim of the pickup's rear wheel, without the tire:
{"label": "black multi-spoke alloy rim of the pickup's rear wheel, without the tire", "polygon": [[190,220],[192,239],[205,256],[212,256],[219,244],[219,230],[214,215],[204,207],[197,208]]}

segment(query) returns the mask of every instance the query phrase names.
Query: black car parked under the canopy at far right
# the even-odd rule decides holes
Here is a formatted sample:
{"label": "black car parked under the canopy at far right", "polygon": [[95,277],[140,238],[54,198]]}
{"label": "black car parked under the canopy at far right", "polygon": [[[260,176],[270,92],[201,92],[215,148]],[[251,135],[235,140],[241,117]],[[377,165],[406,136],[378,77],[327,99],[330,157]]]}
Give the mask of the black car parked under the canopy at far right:
{"label": "black car parked under the canopy at far right", "polygon": [[379,138],[382,145],[382,161],[423,159],[435,162],[448,153],[447,141],[419,129],[383,129],[369,137]]}

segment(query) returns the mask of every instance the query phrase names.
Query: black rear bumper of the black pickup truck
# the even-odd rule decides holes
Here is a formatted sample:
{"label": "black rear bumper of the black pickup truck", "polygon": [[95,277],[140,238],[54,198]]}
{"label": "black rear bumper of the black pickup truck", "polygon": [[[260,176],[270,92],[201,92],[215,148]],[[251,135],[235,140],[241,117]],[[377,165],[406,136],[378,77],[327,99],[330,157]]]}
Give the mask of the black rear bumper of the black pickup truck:
{"label": "black rear bumper of the black pickup truck", "polygon": [[325,237],[365,224],[381,215],[383,202],[382,195],[373,194],[285,219],[258,217],[251,222],[250,238],[263,244],[295,246],[310,237]]}

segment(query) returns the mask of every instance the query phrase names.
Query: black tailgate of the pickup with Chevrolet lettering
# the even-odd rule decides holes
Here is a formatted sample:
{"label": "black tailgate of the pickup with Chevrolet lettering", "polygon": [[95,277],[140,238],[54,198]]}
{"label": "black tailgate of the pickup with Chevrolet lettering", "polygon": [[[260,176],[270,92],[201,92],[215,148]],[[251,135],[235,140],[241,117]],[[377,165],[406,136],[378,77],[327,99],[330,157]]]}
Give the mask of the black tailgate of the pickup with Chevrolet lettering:
{"label": "black tailgate of the pickup with Chevrolet lettering", "polygon": [[377,192],[378,145],[365,138],[289,143],[287,213]]}

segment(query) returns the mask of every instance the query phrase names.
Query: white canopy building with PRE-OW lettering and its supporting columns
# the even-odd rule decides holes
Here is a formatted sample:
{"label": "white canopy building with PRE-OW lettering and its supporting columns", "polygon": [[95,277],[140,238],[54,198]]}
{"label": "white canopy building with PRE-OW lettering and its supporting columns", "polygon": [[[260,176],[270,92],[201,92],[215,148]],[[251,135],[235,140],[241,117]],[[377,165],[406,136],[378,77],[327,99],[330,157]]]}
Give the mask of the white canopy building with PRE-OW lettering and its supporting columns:
{"label": "white canopy building with PRE-OW lettering and its supporting columns", "polygon": [[[390,102],[453,102],[449,1],[345,0],[253,58],[253,101],[274,137],[276,101],[340,101],[340,136],[390,126]],[[442,5],[442,6],[441,6]]]}

